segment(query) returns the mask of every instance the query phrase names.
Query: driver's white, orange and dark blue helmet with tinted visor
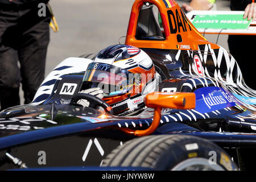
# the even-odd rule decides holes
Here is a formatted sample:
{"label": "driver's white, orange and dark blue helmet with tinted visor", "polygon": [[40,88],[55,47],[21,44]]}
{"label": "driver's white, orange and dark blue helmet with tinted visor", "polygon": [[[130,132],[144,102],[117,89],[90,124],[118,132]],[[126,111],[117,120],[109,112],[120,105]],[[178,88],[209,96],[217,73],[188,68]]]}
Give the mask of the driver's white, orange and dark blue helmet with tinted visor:
{"label": "driver's white, orange and dark blue helmet with tinted visor", "polygon": [[156,89],[155,67],[150,57],[137,47],[109,46],[88,65],[84,89],[100,88],[114,114],[127,115],[144,107],[143,97]]}

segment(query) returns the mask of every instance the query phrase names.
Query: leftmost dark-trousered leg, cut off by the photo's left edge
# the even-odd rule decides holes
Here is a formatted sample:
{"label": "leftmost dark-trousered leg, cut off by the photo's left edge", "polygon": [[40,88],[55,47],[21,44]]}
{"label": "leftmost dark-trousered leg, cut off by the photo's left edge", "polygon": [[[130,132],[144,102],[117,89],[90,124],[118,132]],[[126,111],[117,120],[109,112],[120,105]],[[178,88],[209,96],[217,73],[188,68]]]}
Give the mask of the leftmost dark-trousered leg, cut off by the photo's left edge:
{"label": "leftmost dark-trousered leg, cut off by the photo's left edge", "polygon": [[16,19],[15,11],[0,7],[0,110],[20,104]]}

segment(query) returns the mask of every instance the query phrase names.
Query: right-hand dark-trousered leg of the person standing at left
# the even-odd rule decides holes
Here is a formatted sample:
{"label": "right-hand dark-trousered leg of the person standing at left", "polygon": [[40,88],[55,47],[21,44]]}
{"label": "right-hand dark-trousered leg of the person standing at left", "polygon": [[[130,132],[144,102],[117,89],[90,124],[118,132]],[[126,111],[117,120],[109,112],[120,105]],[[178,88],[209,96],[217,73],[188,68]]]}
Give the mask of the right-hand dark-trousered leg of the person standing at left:
{"label": "right-hand dark-trousered leg of the person standing at left", "polygon": [[31,10],[24,14],[20,21],[24,30],[19,60],[25,104],[33,100],[36,90],[44,80],[49,43],[49,15],[39,18],[37,13]]}

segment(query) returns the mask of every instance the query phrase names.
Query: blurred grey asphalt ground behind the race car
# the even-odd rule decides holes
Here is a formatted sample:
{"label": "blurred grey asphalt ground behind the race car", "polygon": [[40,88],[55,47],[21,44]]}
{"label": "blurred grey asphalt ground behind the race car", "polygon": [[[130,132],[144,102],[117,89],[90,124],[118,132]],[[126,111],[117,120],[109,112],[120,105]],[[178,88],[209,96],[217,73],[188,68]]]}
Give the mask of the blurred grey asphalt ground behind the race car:
{"label": "blurred grey asphalt ground behind the race car", "polygon": [[[48,46],[46,76],[67,57],[77,57],[85,53],[97,53],[101,49],[118,44],[118,39],[126,35],[134,0],[54,0],[50,1],[60,31],[51,30]],[[177,1],[179,5],[183,2]],[[218,0],[217,10],[229,10],[228,0]],[[216,43],[216,35],[205,35]],[[227,35],[220,35],[218,44],[228,49]],[[124,43],[122,39],[121,43]],[[23,92],[20,89],[23,104]]]}

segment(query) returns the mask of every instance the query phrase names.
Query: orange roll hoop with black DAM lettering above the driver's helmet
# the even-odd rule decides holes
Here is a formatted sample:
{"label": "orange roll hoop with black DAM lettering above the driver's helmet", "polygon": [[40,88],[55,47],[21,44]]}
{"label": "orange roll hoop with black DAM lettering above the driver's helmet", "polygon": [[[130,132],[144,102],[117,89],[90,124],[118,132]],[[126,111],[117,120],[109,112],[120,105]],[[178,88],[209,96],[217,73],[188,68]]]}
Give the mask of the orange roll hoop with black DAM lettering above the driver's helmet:
{"label": "orange roll hoop with black DAM lettering above the driver's helmet", "polygon": [[[166,40],[137,40],[135,38],[139,11],[144,2],[152,3],[158,7]],[[174,31],[174,27],[179,31]],[[178,34],[181,36],[182,42],[178,42]],[[180,45],[186,45],[193,50],[198,50],[198,45],[210,44],[212,48],[219,48],[216,44],[208,42],[196,30],[174,0],[136,0],[131,9],[125,44],[138,48],[159,49],[181,49]]]}

